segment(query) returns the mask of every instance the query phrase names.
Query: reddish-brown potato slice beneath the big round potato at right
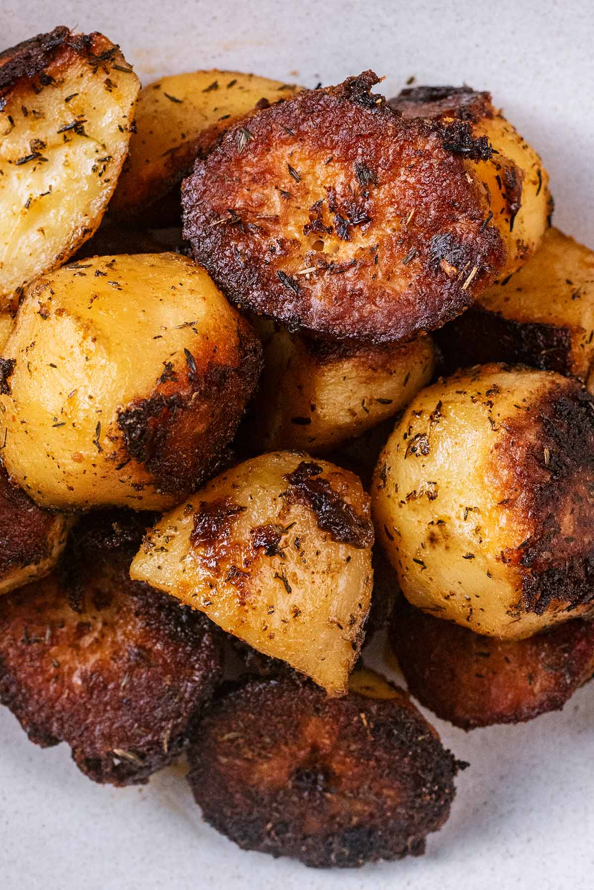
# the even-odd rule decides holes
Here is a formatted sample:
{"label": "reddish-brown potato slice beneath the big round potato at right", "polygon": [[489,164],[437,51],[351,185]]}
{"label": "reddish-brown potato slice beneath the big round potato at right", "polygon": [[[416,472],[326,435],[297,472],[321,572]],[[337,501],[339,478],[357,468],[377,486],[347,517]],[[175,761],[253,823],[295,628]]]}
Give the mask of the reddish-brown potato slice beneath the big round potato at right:
{"label": "reddish-brown potato slice beneath the big round potato at right", "polygon": [[467,730],[560,710],[594,674],[594,622],[582,619],[527,640],[498,640],[402,598],[389,640],[409,692]]}

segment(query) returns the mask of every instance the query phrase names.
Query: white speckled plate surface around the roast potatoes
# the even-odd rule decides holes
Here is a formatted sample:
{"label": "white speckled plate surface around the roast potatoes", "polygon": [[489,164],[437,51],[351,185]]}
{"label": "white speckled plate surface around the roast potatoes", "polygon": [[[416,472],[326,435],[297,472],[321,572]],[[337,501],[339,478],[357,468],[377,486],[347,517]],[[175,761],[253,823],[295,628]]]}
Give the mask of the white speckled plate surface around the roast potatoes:
{"label": "white speckled plate surface around the roast potatoes", "polygon": [[[494,101],[541,152],[555,222],[594,247],[594,12],[590,0],[356,3],[83,0],[4,3],[0,44],[66,24],[121,44],[143,83],[221,68],[315,85],[362,69],[387,95],[417,83],[467,83]],[[382,661],[373,646],[371,663]],[[431,719],[431,717],[429,716]],[[444,829],[420,859],[353,872],[313,871],[242,853],[200,820],[184,767],[140,789],[101,788],[65,746],[32,746],[0,711],[0,887],[3,890],[540,890],[592,886],[594,684],[565,710],[472,733],[433,720],[470,769]]]}

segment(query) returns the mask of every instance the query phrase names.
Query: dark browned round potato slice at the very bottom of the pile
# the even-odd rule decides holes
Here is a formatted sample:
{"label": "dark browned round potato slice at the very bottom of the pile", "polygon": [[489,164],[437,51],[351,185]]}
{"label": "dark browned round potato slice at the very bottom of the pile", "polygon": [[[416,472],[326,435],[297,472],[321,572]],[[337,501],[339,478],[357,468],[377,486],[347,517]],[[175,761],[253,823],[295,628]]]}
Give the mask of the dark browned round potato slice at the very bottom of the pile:
{"label": "dark browned round potato slice at the very bottom of the pile", "polygon": [[218,701],[190,764],[211,825],[243,849],[319,868],[424,853],[450,813],[457,770],[404,692],[330,699],[289,679]]}

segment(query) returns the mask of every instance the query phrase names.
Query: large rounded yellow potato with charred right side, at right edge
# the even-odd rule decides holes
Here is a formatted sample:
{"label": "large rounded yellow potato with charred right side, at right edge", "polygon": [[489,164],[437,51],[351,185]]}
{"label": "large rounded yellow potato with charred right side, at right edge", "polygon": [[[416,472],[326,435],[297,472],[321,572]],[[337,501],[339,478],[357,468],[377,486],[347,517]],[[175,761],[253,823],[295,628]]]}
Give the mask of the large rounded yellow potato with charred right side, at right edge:
{"label": "large rounded yellow potato with charred right side, at right edge", "polygon": [[487,365],[428,387],[372,498],[421,609],[521,639],[594,608],[594,397],[573,379]]}

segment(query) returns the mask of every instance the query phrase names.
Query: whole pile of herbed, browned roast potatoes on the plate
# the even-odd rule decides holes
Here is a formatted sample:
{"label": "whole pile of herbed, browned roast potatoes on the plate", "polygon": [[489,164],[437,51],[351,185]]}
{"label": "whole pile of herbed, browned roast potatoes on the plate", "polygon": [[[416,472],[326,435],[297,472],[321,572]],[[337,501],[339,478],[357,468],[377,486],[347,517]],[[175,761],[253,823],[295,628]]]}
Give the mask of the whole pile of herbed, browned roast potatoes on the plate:
{"label": "whole pile of herbed, browned roast potatoes on the plate", "polygon": [[594,254],[489,93],[377,83],[0,54],[0,700],[315,866],[461,766],[366,630],[465,728],[594,671]]}

